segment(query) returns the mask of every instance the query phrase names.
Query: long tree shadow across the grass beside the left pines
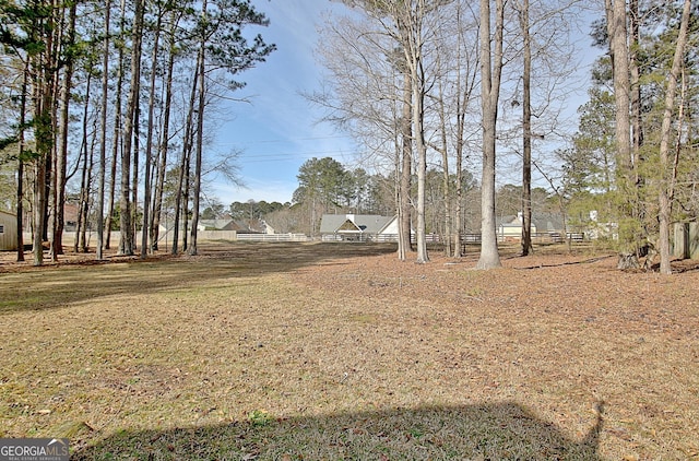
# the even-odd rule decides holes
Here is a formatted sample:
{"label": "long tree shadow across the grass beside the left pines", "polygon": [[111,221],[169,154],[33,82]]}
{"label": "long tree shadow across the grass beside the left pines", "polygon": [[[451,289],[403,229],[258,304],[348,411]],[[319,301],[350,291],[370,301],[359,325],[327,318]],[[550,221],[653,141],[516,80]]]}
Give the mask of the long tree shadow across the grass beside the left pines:
{"label": "long tree shadow across the grass beside the left pines", "polygon": [[[152,294],[239,277],[283,273],[330,260],[386,255],[395,245],[215,243],[199,256],[114,257],[106,261],[20,267],[0,276],[0,315],[43,310],[119,294]],[[339,263],[339,262],[337,262]]]}

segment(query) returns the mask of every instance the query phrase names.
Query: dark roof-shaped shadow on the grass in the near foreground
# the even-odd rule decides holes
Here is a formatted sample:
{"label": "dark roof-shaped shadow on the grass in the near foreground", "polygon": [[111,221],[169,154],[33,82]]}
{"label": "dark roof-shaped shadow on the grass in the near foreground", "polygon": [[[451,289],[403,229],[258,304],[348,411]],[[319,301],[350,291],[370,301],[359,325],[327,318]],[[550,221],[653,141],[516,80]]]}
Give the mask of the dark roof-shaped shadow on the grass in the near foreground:
{"label": "dark roof-shaped shadow on the grass in the near foreground", "polygon": [[602,460],[597,421],[576,441],[517,403],[122,430],[71,460]]}

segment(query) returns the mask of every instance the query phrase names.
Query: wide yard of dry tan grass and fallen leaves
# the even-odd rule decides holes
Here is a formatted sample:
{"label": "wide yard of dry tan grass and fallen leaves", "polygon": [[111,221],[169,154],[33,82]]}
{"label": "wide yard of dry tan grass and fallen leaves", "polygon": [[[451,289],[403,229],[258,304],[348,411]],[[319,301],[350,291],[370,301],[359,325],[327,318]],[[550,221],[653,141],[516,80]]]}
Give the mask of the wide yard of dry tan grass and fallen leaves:
{"label": "wide yard of dry tan grass and fallen leaves", "polygon": [[3,255],[0,437],[68,437],[71,460],[699,459],[698,261],[200,248]]}

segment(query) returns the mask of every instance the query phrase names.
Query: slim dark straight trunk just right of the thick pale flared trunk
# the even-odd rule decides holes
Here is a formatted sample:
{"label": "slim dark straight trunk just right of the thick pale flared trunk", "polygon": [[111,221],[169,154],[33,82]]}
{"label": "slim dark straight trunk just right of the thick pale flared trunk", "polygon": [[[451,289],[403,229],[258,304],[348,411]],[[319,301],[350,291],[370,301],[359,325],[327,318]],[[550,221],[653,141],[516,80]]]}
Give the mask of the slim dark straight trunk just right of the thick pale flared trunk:
{"label": "slim dark straight trunk just right of the thick pale flared trunk", "polygon": [[532,46],[529,32],[529,0],[522,1],[520,24],[524,42],[522,69],[522,256],[532,250]]}

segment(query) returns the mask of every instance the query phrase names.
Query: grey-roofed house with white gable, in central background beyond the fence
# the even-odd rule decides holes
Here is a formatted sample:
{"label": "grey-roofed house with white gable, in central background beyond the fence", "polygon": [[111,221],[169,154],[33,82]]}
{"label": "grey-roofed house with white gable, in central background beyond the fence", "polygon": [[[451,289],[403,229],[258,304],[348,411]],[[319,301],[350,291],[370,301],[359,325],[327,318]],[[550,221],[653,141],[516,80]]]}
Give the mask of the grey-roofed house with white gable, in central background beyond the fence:
{"label": "grey-roofed house with white gable, in central background beyond the fence", "polygon": [[398,216],[323,214],[320,235],[323,240],[395,241]]}

